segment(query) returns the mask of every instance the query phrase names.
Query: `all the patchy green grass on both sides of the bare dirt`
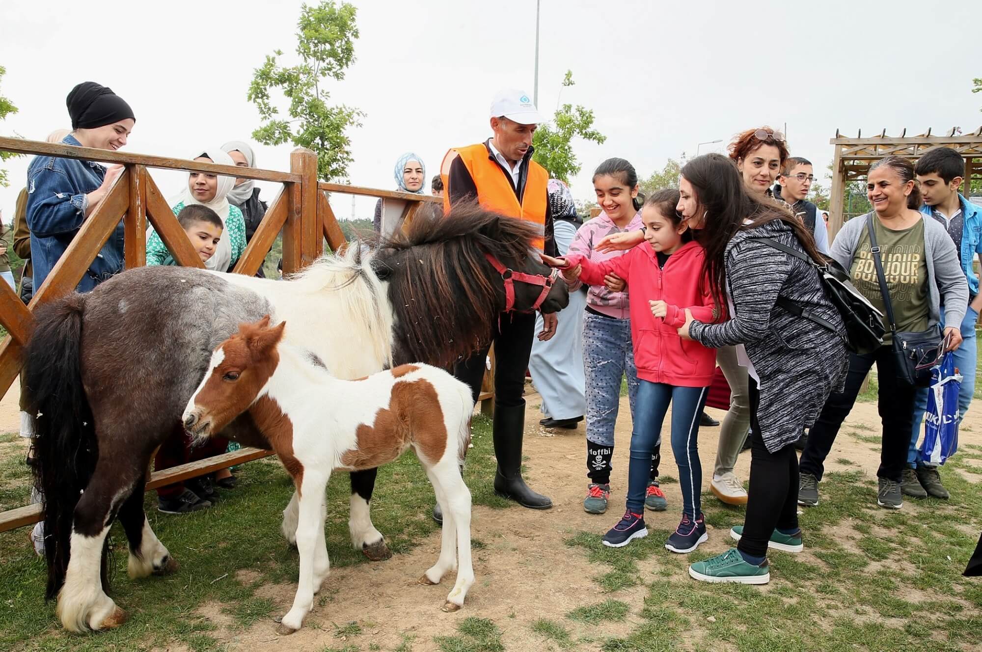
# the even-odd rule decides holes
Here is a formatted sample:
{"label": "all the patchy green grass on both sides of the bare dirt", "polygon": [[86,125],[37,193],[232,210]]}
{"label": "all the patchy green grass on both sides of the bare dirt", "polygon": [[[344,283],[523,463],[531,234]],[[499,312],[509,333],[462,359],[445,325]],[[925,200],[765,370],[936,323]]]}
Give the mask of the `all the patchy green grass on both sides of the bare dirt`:
{"label": "all the patchy green grass on both sides of the bare dirt", "polygon": [[[863,424],[850,425],[854,437],[871,437]],[[495,497],[491,486],[490,424],[476,418],[474,428],[474,448],[465,471],[468,486],[475,503],[505,508],[509,504]],[[962,452],[941,468],[952,500],[906,501],[896,513],[875,507],[872,467],[838,460],[848,468],[827,472],[821,504],[799,516],[806,554],[771,554],[772,579],[767,587],[690,580],[687,565],[710,553],[700,550],[680,556],[666,551],[668,530],[652,528],[648,537],[620,549],[603,546],[595,531],[555,533],[566,537],[566,556],[582,556],[593,569],[587,577],[592,578],[594,590],[583,591],[579,606],[565,615],[518,606],[509,614],[506,606],[495,623],[481,618],[486,614],[475,609],[445,635],[424,640],[409,630],[402,633],[398,646],[380,647],[365,634],[375,626],[367,620],[331,622],[328,603],[344,590],[332,586],[332,592],[318,596],[309,618],[308,626],[323,630],[318,642],[322,647],[313,649],[502,652],[506,649],[502,626],[508,636],[520,632],[529,649],[554,651],[982,649],[982,585],[977,578],[960,574],[982,529],[982,492],[966,479],[978,468],[973,459],[982,455],[982,447],[966,444]],[[26,483],[23,462],[0,461],[0,489],[22,492],[0,491],[0,501],[18,504],[26,498],[18,487]],[[268,628],[272,639],[278,612],[257,589],[270,582],[296,580],[296,552],[279,534],[280,512],[291,492],[284,471],[266,461],[244,465],[240,487],[202,513],[162,516],[149,511],[153,504],[148,497],[147,516],[182,569],[168,577],[131,581],[125,571],[125,539],[115,528],[114,598],[131,613],[131,621],[97,635],[68,635],[60,630],[53,606],[41,599],[43,564],[29,554],[26,531],[0,534],[0,649],[222,649],[216,625],[198,611],[206,604],[230,617],[223,638],[251,626],[260,631]],[[335,568],[364,563],[349,545],[348,493],[348,478],[338,474],[328,490],[326,530]],[[708,497],[705,502],[707,523],[714,528],[710,540],[719,543],[730,526],[742,522],[744,511],[717,505]],[[373,508],[375,514],[385,514],[380,525],[397,552],[411,550],[435,531],[428,517],[431,506],[431,490],[414,458],[404,457],[380,469]],[[494,554],[498,545],[490,534],[472,541],[481,555]],[[594,592],[606,595],[598,598]],[[518,648],[510,645],[509,649]]]}

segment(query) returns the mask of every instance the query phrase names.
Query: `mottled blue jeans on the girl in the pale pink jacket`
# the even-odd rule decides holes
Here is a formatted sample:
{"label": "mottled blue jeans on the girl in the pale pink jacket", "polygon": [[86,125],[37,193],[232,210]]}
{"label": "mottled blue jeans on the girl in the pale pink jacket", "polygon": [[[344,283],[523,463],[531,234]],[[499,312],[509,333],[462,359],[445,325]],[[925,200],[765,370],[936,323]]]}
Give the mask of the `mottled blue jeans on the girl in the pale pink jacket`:
{"label": "mottled blue jeans on the girl in the pale pink jacket", "polygon": [[631,420],[634,419],[637,396],[630,319],[600,317],[591,312],[583,314],[583,371],[586,377],[586,438],[600,446],[614,446],[614,423],[621,407],[621,379],[625,374]]}

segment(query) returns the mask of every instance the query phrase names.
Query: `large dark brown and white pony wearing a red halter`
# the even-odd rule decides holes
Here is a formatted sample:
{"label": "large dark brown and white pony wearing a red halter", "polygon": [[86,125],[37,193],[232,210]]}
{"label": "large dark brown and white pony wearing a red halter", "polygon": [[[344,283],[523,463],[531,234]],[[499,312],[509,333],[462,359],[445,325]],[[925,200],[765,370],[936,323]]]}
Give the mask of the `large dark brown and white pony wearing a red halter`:
{"label": "large dark brown and white pony wearing a red halter", "polygon": [[[323,256],[287,282],[145,267],[38,308],[24,374],[28,411],[37,415],[47,597],[58,597],[62,625],[81,631],[125,621],[105,592],[106,535],[117,517],[131,577],[176,568],[143,513],[144,474],[154,450],[181,432],[212,350],[240,323],[265,314],[287,321],[284,341],[339,378],[404,362],[447,368],[487,342],[506,307],[548,313],[568,304],[566,284],[553,283],[532,252],[535,238],[520,220],[468,207],[417,218],[407,235],[376,251],[351,246]],[[519,281],[501,266],[531,276]],[[270,448],[247,414],[221,435]],[[355,547],[378,560],[390,553],[368,511],[375,475],[352,473],[349,524]],[[292,543],[297,505],[295,494],[284,512]]]}

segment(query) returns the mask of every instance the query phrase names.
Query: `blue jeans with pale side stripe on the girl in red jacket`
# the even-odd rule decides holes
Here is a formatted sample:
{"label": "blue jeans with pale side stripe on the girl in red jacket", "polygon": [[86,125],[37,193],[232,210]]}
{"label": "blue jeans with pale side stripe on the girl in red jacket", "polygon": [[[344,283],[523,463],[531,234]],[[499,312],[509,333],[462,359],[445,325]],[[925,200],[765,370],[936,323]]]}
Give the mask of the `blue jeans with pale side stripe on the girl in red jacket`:
{"label": "blue jeans with pale side stripe on the girl in red jacket", "polygon": [[682,512],[692,520],[701,512],[702,464],[697,438],[699,414],[706,404],[706,387],[674,387],[638,380],[634,431],[630,435],[627,467],[627,510],[641,514],[651,473],[651,452],[661,439],[662,422],[672,404],[672,453],[679,466]]}

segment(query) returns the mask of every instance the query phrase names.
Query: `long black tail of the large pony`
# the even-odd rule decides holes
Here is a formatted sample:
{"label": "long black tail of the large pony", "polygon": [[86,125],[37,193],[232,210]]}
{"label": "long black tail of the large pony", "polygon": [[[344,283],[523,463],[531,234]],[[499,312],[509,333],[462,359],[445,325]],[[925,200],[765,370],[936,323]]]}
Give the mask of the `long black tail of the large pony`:
{"label": "long black tail of the large pony", "polygon": [[[75,507],[98,458],[91,409],[82,389],[84,302],[84,295],[73,293],[39,306],[24,352],[27,412],[34,421],[34,486],[44,507],[48,599],[65,583]],[[103,563],[103,589],[108,585],[106,566]]]}

